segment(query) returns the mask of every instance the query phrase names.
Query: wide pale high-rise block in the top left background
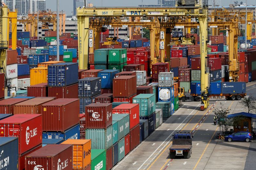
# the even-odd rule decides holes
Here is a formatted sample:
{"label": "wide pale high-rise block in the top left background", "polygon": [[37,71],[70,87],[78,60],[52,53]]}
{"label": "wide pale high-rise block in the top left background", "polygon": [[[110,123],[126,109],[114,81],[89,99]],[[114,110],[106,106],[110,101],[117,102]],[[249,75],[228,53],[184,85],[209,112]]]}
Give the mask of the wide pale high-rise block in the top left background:
{"label": "wide pale high-rise block in the top left background", "polygon": [[46,11],[45,0],[5,0],[5,4],[8,6],[10,11],[14,11],[16,9],[17,14],[23,16],[28,15],[28,13],[36,13],[37,6],[39,11]]}

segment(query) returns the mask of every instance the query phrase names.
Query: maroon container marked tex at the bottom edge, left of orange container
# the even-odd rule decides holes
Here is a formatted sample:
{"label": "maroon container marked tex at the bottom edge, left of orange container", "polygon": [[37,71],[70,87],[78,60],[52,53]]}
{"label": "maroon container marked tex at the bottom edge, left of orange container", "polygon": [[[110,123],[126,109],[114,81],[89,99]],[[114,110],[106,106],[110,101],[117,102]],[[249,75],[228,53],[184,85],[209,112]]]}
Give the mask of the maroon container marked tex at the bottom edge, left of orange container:
{"label": "maroon container marked tex at the bottom edge, left of orange container", "polygon": [[[47,144],[25,157],[25,169],[61,170],[73,168],[72,144]],[[34,164],[36,163],[36,164]],[[37,167],[36,167],[37,165]]]}

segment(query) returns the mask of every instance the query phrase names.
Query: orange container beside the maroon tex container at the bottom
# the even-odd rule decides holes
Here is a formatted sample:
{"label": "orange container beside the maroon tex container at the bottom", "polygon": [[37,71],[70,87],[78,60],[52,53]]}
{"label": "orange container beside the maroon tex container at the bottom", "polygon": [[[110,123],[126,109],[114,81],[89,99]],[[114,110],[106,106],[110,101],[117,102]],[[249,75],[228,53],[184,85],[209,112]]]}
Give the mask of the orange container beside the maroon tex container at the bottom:
{"label": "orange container beside the maroon tex container at the bottom", "polygon": [[73,169],[84,169],[91,164],[91,139],[68,139],[61,144],[73,145]]}

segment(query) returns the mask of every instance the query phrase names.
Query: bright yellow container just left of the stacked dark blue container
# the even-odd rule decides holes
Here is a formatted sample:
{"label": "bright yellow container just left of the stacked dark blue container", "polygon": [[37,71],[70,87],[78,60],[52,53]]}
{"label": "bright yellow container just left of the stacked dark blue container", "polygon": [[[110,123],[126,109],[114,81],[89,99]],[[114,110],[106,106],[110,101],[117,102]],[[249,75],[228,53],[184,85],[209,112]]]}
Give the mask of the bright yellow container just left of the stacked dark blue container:
{"label": "bright yellow container just left of the stacked dark blue container", "polygon": [[30,69],[30,85],[37,85],[40,83],[48,83],[47,67]]}

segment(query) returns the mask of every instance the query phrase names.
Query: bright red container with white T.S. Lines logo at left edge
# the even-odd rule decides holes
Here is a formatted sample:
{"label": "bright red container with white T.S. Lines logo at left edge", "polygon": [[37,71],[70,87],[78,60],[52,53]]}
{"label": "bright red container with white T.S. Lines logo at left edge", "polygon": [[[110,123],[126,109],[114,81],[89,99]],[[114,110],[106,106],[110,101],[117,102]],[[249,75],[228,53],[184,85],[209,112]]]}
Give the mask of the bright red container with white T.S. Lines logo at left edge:
{"label": "bright red container with white T.S. Lines logo at left edge", "polygon": [[0,137],[19,138],[19,154],[42,144],[42,115],[13,115],[0,120],[0,127]]}

